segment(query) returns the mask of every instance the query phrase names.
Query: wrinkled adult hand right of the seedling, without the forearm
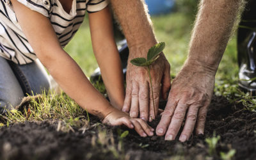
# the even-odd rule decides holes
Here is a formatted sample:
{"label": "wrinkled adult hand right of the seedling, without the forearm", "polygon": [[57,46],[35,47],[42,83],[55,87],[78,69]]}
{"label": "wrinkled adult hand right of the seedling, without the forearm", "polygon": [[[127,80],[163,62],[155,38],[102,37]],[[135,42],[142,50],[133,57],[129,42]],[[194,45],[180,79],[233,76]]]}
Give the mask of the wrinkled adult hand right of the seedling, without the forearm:
{"label": "wrinkled adult hand right of the seedling, without the forearm", "polygon": [[211,68],[198,63],[186,63],[173,80],[168,103],[157,125],[158,136],[166,133],[165,140],[174,140],[184,119],[180,141],[188,140],[194,128],[196,134],[204,134],[207,107],[214,88],[214,75]]}

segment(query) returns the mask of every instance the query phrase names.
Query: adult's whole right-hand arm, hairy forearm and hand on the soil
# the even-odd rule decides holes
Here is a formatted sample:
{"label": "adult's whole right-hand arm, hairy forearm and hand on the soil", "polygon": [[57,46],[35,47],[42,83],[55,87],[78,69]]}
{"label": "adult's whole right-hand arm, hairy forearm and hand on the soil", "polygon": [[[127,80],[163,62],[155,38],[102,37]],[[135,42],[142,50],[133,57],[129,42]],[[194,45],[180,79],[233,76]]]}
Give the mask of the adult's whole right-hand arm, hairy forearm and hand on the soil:
{"label": "adult's whole right-hand arm, hairy forearm and hand on the soil", "polygon": [[200,1],[188,60],[173,80],[168,103],[157,125],[158,136],[166,133],[165,140],[174,140],[184,119],[180,141],[188,140],[194,128],[196,134],[204,134],[214,77],[243,4],[242,0]]}

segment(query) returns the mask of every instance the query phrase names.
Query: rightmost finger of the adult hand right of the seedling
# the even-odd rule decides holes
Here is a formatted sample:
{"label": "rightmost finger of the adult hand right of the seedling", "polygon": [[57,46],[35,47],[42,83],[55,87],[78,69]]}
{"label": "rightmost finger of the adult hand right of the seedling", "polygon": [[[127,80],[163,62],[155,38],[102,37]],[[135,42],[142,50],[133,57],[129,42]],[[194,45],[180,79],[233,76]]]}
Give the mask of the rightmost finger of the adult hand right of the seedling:
{"label": "rightmost finger of the adult hand right of the seedling", "polygon": [[196,122],[196,134],[204,134],[204,126],[205,126],[205,119],[206,119],[206,115],[207,115],[208,105],[209,104],[200,108],[198,111],[198,117],[197,117],[197,122]]}

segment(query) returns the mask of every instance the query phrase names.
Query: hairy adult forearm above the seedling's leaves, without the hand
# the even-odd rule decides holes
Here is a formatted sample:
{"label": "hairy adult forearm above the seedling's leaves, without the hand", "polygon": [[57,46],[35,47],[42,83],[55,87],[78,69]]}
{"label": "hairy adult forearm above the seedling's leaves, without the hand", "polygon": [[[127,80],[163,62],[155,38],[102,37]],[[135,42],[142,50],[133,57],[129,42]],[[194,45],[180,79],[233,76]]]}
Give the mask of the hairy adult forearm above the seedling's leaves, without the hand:
{"label": "hairy adult forearm above the seedling's leaves, without the hand", "polygon": [[142,48],[149,49],[156,44],[152,22],[143,0],[111,0],[111,6],[122,26],[129,49],[141,46],[141,50],[144,50]]}

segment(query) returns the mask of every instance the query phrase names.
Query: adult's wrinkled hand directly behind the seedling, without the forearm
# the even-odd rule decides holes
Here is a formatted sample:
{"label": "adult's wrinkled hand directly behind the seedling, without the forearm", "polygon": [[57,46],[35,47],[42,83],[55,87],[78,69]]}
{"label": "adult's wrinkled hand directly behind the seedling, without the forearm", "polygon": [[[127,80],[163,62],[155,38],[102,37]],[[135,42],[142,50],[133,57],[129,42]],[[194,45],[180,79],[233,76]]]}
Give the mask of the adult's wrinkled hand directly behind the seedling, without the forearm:
{"label": "adult's wrinkled hand directly behind the seedling, without the forearm", "polygon": [[[138,50],[136,51],[136,49],[130,49],[130,52],[138,52]],[[136,118],[140,116],[140,118],[145,121],[152,121],[156,118],[157,115],[160,90],[163,98],[166,99],[166,93],[170,89],[170,64],[162,53],[159,59],[155,61],[152,66],[150,66],[150,74],[152,77],[153,86],[152,91],[150,88],[150,80],[147,68],[136,67],[130,63],[130,60],[138,57],[140,56],[129,56],[126,76],[126,95],[124,107],[122,110],[129,112],[131,117]],[[151,92],[153,92],[154,97],[152,97]],[[155,103],[155,111],[153,98]]]}

